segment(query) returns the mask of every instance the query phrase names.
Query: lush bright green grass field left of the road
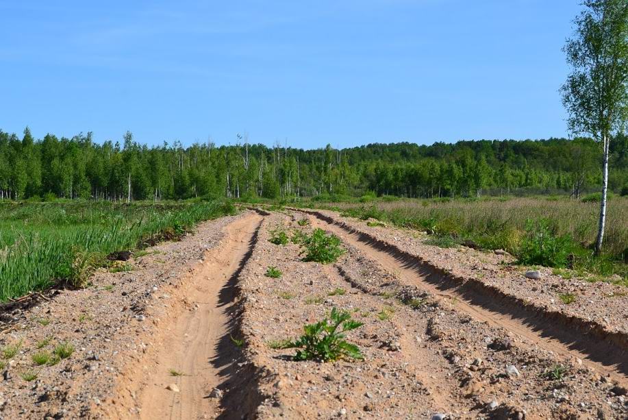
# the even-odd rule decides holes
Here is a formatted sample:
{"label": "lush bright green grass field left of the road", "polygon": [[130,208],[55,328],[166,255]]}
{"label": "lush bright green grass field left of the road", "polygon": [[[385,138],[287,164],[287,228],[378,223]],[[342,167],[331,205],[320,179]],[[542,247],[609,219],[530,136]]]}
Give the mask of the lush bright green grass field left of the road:
{"label": "lush bright green grass field left of the road", "polygon": [[0,202],[0,301],[58,282],[81,286],[114,251],[176,238],[230,203]]}

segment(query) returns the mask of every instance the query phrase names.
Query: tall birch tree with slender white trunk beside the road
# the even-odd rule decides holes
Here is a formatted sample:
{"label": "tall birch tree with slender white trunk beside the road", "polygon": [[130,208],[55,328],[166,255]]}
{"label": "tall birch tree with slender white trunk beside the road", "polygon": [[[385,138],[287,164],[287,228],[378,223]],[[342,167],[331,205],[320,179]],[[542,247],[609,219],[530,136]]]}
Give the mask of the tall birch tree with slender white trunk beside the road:
{"label": "tall birch tree with slender white trunk beside the road", "polygon": [[568,127],[602,147],[602,193],[595,252],[604,239],[609,146],[628,115],[628,0],[586,0],[564,47],[572,71],[562,86]]}

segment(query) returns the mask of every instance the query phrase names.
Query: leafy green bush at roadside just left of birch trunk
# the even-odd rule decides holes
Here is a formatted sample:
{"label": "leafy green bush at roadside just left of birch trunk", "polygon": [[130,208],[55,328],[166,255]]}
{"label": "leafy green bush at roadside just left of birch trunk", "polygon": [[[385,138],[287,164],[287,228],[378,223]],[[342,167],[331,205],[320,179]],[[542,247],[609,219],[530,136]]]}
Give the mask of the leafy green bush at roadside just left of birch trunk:
{"label": "leafy green bush at roadside just left of birch trunk", "polygon": [[527,222],[526,236],[517,257],[520,264],[539,264],[545,267],[566,267],[574,243],[570,235],[557,236],[548,221]]}

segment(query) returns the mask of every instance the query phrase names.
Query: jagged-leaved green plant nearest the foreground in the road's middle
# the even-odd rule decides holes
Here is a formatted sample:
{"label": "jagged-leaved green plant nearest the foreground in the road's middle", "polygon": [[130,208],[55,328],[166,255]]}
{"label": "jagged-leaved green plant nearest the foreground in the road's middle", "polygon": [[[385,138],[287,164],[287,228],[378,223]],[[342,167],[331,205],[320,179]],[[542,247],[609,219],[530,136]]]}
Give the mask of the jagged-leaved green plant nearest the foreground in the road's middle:
{"label": "jagged-leaved green plant nearest the foreground in the road's middle", "polygon": [[[308,324],[303,327],[304,334],[295,341],[286,341],[282,349],[299,349],[294,360],[318,360],[333,362],[338,359],[362,360],[362,352],[344,340],[346,333],[360,328],[364,323],[351,319],[347,311],[336,308],[331,310],[329,319]],[[339,330],[340,328],[340,330]]]}

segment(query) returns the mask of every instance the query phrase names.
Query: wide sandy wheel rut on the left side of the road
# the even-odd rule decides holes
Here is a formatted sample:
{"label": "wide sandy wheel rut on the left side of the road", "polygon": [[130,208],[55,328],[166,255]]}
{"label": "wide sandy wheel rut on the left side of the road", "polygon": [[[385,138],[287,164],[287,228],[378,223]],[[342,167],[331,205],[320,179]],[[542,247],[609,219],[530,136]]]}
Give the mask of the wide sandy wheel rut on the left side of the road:
{"label": "wide sandy wheel rut on the left side of the road", "polygon": [[[236,283],[251,255],[261,219],[251,215],[227,225],[223,243],[208,251],[192,277],[185,293],[191,310],[173,320],[162,346],[149,360],[149,380],[139,393],[141,419],[228,417],[226,411],[221,413],[221,399],[210,393],[234,371],[238,349],[231,334],[236,321]],[[169,369],[182,375],[172,376]],[[180,392],[166,389],[168,384],[176,384]]]}

